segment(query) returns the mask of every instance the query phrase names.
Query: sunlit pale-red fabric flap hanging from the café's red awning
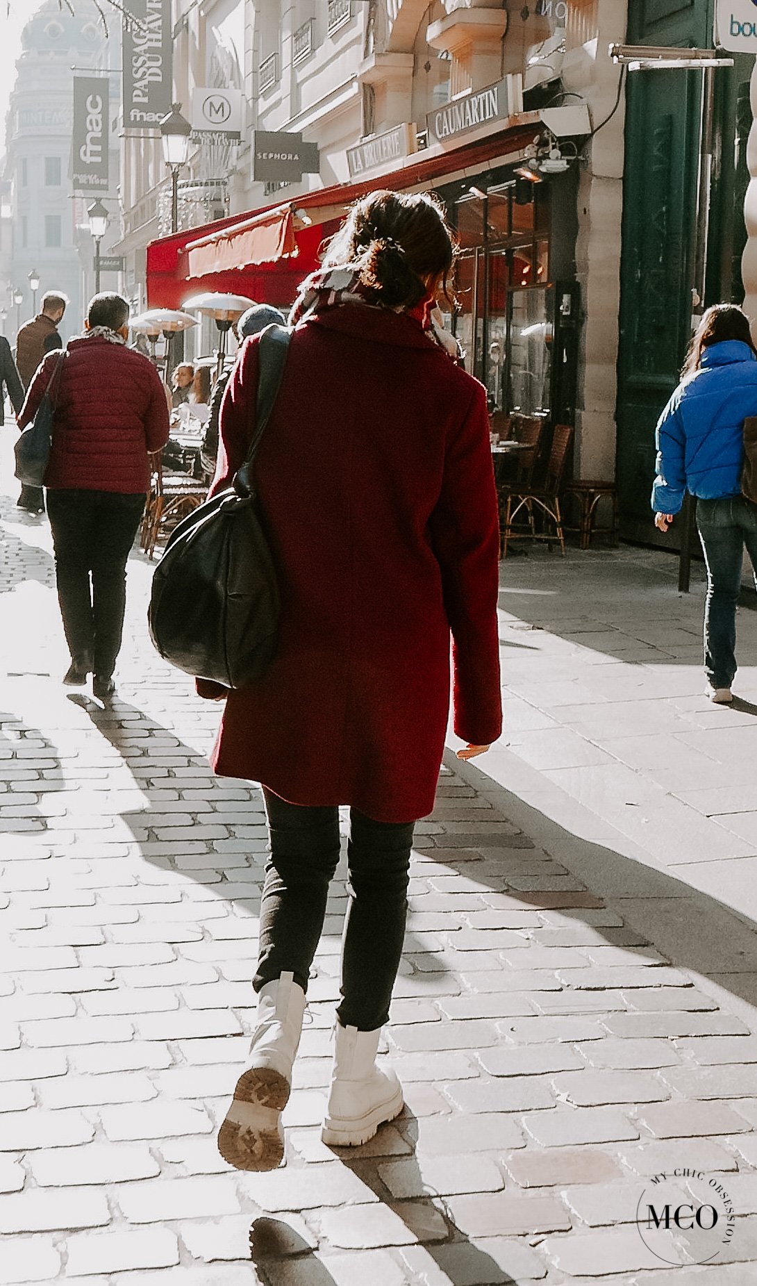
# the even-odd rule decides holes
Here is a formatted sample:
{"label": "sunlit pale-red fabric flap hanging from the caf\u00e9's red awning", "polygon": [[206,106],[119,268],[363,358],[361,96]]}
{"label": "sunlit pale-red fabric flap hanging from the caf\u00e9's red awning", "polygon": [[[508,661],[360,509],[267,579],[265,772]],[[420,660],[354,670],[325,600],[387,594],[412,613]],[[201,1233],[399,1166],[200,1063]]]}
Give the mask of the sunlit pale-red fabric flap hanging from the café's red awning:
{"label": "sunlit pale-red fabric flap hanging from the caf\u00e9's red awning", "polygon": [[206,276],[257,264],[276,264],[294,258],[299,247],[294,237],[292,206],[267,210],[218,233],[189,242],[186,276]]}

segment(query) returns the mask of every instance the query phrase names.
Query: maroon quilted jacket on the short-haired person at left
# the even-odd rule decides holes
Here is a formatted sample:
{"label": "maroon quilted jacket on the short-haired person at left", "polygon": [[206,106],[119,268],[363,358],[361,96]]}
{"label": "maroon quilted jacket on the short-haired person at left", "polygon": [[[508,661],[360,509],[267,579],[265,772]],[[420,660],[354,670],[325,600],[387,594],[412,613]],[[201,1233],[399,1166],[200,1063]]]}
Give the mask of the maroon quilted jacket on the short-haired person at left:
{"label": "maroon quilted jacket on the short-haired person at left", "polygon": [[[49,354],[18,427],[35,417],[60,355]],[[71,340],[55,400],[45,486],[135,495],[149,486],[148,451],[168,441],[168,405],[149,358],[99,336]]]}

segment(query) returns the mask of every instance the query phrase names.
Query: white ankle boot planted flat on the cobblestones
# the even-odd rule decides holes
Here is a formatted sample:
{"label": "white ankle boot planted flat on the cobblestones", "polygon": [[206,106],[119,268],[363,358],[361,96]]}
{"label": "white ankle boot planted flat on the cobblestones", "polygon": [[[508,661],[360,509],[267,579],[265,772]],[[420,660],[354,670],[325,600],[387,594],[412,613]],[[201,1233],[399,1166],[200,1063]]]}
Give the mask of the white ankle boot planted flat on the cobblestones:
{"label": "white ankle boot planted flat on the cobblestones", "polygon": [[373,1138],[402,1111],[402,1087],[391,1067],[375,1065],[380,1028],[359,1031],[337,1022],[334,1070],[321,1130],[324,1143],[350,1147]]}

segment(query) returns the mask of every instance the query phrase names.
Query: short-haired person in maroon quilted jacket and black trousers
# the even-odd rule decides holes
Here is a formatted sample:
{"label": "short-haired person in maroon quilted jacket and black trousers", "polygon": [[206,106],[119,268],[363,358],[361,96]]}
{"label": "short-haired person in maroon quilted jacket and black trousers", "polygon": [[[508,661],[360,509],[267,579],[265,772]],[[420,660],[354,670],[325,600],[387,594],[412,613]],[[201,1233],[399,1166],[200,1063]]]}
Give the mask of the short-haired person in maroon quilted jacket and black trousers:
{"label": "short-haired person in maroon quilted jacket and black trousers", "polygon": [[[45,486],[71,652],[63,682],[78,687],[94,673],[93,692],[105,701],[114,691],[126,559],[149,486],[148,453],[168,441],[168,406],[149,358],[126,347],[126,300],[95,294],[85,328],[63,358]],[[59,360],[50,354],[35,374],[19,428],[33,419]]]}

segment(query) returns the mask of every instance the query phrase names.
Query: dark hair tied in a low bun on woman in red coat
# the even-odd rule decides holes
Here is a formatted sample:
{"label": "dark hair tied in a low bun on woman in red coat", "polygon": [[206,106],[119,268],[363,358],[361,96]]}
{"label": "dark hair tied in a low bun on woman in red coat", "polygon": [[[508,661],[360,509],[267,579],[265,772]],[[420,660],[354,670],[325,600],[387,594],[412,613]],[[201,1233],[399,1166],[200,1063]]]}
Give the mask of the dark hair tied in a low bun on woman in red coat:
{"label": "dark hair tied in a low bun on woman in red coat", "polygon": [[456,244],[443,206],[425,192],[371,192],[355,202],[324,256],[324,267],[357,262],[369,303],[413,309],[427,293],[424,278],[441,278],[450,306],[449,274]]}

